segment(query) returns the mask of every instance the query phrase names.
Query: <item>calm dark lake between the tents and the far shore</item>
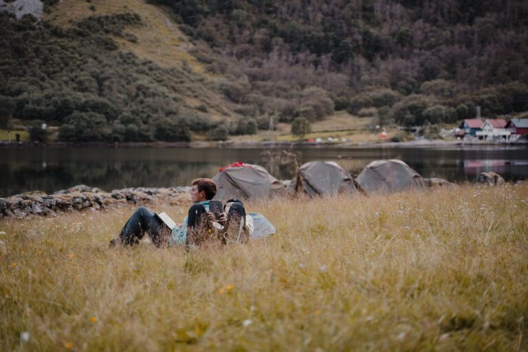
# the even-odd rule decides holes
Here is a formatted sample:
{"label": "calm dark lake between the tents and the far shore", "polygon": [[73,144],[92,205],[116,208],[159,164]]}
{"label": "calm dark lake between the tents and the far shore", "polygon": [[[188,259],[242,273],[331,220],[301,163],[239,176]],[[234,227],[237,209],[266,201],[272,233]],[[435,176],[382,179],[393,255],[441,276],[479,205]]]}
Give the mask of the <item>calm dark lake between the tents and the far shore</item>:
{"label": "calm dark lake between the tents and the far shore", "polygon": [[279,179],[300,164],[333,160],[358,175],[375,159],[401,159],[423,177],[473,181],[493,170],[509,181],[528,179],[528,146],[412,148],[0,148],[0,197],[30,190],[52,193],[78,184],[113,190],[126,187],[186,186],[212,177],[221,166],[246,162],[265,166]]}

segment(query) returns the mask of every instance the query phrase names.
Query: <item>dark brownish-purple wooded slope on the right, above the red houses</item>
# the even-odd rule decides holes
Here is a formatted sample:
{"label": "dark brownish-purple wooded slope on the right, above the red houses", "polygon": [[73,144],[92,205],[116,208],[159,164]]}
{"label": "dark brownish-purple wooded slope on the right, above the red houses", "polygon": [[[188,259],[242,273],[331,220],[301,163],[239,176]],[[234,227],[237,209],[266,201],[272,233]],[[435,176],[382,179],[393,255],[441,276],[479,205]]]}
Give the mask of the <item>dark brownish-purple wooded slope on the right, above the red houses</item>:
{"label": "dark brownish-purple wooded slope on the right, above the red houses", "polygon": [[152,1],[206,43],[195,55],[248,115],[423,124],[528,109],[525,1]]}

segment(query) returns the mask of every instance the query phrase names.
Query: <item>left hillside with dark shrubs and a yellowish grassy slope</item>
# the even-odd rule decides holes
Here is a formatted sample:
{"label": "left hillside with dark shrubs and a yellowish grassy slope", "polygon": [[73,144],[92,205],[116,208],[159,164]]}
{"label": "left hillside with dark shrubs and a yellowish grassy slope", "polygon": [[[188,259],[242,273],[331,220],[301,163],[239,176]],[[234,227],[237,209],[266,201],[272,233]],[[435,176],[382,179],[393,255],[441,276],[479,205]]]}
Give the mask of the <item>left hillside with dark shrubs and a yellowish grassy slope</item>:
{"label": "left hillside with dark shrubs and a yellowish grassy slope", "polygon": [[62,140],[81,142],[184,141],[236,118],[159,7],[61,1],[48,10],[42,23],[0,14],[0,96],[13,118],[59,125]]}

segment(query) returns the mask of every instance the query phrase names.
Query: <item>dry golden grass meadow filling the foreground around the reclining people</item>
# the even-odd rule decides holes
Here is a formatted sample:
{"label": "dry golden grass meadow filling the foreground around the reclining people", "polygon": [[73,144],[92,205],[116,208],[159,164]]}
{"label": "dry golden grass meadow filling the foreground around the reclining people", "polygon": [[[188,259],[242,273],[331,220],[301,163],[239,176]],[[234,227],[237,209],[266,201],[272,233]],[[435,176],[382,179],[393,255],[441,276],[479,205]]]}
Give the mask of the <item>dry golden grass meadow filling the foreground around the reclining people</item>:
{"label": "dry golden grass meadow filling the foreground around the reclining people", "polygon": [[0,220],[0,350],[528,349],[528,184],[246,206],[278,234],[193,252],[109,250],[132,208]]}

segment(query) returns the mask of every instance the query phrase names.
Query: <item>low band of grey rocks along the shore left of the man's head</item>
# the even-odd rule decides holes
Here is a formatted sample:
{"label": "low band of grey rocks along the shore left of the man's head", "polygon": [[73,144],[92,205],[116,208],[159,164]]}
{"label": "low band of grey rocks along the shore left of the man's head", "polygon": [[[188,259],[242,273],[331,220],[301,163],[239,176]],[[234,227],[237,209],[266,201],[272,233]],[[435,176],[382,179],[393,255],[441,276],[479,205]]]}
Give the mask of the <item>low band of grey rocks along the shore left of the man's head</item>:
{"label": "low band of grey rocks along the shore left of the man's head", "polygon": [[126,204],[165,202],[174,205],[188,202],[189,192],[190,187],[140,187],[105,192],[85,185],[58,190],[51,195],[41,191],[26,192],[0,198],[0,218],[23,218],[32,215],[56,216],[63,212],[118,208]]}

